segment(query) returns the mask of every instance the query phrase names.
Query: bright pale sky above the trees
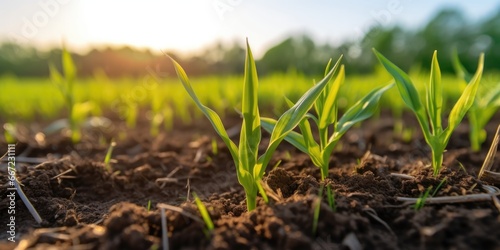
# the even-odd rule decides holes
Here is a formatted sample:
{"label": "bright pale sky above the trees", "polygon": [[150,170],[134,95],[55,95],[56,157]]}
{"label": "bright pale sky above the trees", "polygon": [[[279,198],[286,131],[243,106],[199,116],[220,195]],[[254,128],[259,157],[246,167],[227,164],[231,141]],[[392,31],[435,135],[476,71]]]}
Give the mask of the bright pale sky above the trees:
{"label": "bright pale sky above the trees", "polygon": [[[475,3],[474,3],[475,2]],[[423,25],[442,7],[472,20],[500,8],[498,0],[15,0],[0,1],[0,40],[85,51],[132,45],[154,51],[197,50],[215,40],[243,43],[257,56],[293,32],[340,43],[378,23]]]}

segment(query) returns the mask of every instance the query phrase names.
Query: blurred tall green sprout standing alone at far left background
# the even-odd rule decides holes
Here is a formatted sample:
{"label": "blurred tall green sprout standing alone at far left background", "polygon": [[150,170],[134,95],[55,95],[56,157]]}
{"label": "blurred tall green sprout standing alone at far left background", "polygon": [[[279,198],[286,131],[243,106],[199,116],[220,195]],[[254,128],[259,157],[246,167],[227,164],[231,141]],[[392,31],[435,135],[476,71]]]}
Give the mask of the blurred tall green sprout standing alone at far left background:
{"label": "blurred tall green sprout standing alone at far left background", "polygon": [[59,73],[53,64],[49,64],[50,78],[52,82],[59,88],[59,91],[64,97],[64,101],[68,106],[68,122],[71,133],[71,140],[75,143],[80,141],[80,130],[75,121],[75,95],[73,86],[76,78],[76,67],[71,58],[71,54],[63,47],[62,51],[62,68],[64,76]]}

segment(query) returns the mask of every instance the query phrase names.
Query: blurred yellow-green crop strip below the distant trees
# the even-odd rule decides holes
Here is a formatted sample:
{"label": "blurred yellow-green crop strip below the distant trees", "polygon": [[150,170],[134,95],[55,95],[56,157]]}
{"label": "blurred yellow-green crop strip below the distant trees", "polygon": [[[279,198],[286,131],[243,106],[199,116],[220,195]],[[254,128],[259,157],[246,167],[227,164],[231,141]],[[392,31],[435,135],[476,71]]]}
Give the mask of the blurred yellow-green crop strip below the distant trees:
{"label": "blurred yellow-green crop strip below the distant trees", "polygon": [[[410,71],[417,91],[425,92],[428,80],[427,69],[415,67]],[[391,76],[379,67],[371,75],[350,75],[347,64],[345,84],[339,90],[339,109],[345,110],[349,104],[365,95],[369,89],[382,86]],[[317,77],[318,79],[321,76]],[[295,71],[287,74],[273,74],[261,77],[259,99],[261,105],[271,108],[271,112],[279,113],[286,106],[283,96],[297,100],[312,84],[313,79]],[[198,89],[198,97],[218,112],[230,111],[241,104],[242,76],[207,76],[192,79]],[[500,75],[485,74],[479,92],[489,91],[500,81]],[[451,110],[451,102],[456,100],[465,88],[465,84],[457,84],[457,77],[443,75],[443,110]],[[0,117],[3,122],[33,121],[40,116],[45,120],[59,118],[61,111],[67,107],[63,96],[50,79],[0,77]],[[186,122],[192,120],[186,110],[194,107],[188,96],[173,76],[164,76],[161,72],[150,72],[142,78],[110,79],[102,71],[94,77],[75,79],[74,98],[77,103],[90,103],[92,114],[101,114],[111,110],[120,114],[123,119],[133,116],[134,108],[151,110],[153,113],[168,113],[181,117]],[[382,96],[382,108],[391,109],[396,116],[406,109],[398,100],[397,90],[391,89]],[[481,97],[482,95],[478,95]],[[190,116],[200,115],[199,112]],[[132,118],[129,118],[132,119]]]}

